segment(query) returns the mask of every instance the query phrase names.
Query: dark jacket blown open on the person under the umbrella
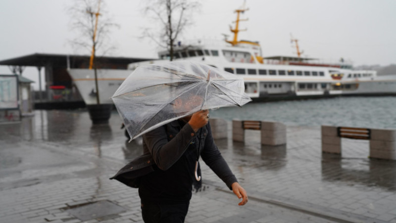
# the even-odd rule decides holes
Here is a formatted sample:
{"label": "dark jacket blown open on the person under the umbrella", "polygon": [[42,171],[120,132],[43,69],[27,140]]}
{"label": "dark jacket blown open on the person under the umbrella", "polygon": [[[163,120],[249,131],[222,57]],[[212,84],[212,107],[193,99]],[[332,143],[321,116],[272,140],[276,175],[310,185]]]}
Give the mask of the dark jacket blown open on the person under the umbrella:
{"label": "dark jacket blown open on the person under the umbrella", "polygon": [[137,188],[139,177],[154,171],[151,165],[155,164],[159,169],[167,170],[183,155],[190,143],[196,141],[199,144],[199,154],[202,160],[231,189],[231,184],[237,182],[237,178],[217,149],[210,124],[202,127],[197,133],[189,124],[180,128],[176,120],[144,134],[144,154],[128,163],[110,179],[117,179],[128,186]]}

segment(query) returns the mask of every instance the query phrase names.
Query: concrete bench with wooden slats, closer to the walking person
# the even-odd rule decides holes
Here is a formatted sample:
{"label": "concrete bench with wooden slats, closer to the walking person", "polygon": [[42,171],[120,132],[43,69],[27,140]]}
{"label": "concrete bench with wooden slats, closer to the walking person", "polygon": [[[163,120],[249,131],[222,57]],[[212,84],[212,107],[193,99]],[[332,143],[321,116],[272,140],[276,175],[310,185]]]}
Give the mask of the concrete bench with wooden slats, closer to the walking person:
{"label": "concrete bench with wooden slats, closer to the walking person", "polygon": [[279,122],[264,122],[251,120],[232,120],[232,138],[234,141],[245,141],[245,130],[259,130],[261,144],[286,144],[286,126]]}

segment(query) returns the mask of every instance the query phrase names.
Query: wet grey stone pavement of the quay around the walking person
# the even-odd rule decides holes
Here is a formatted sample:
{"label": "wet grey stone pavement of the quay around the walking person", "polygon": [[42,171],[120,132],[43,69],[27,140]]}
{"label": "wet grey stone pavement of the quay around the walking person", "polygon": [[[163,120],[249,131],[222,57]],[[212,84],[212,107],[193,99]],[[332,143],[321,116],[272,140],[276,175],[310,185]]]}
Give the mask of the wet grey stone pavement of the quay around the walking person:
{"label": "wet grey stone pavement of the quay around the walking person", "polygon": [[[137,189],[109,180],[142,153],[113,111],[93,126],[85,110],[35,111],[0,124],[0,222],[143,222]],[[247,190],[238,199],[203,163],[187,223],[396,223],[396,162],[368,159],[365,140],[342,139],[343,155],[321,153],[320,127],[287,127],[287,145],[216,140]]]}

